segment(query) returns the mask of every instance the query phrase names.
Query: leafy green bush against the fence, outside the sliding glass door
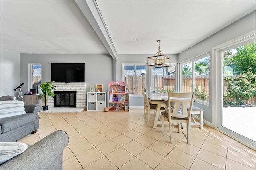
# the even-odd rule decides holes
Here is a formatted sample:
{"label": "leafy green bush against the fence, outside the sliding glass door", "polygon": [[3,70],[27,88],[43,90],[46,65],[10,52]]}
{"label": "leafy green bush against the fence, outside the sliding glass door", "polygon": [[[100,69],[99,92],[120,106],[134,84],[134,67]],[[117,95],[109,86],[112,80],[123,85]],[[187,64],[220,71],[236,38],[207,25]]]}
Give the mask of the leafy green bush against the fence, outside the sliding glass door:
{"label": "leafy green bush against the fence, outside the sliding glass door", "polygon": [[247,100],[256,95],[256,74],[242,72],[234,77],[226,77],[228,89],[226,98],[235,98],[237,104],[245,104]]}

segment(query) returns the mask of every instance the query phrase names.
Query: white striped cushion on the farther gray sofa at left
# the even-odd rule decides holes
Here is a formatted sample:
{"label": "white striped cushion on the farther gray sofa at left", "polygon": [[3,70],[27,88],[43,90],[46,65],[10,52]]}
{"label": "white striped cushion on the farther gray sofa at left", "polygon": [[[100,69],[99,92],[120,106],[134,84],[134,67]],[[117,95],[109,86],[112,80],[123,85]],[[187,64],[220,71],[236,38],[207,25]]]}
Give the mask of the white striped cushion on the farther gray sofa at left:
{"label": "white striped cushion on the farther gray sofa at left", "polygon": [[23,101],[0,101],[0,119],[22,114],[26,114]]}

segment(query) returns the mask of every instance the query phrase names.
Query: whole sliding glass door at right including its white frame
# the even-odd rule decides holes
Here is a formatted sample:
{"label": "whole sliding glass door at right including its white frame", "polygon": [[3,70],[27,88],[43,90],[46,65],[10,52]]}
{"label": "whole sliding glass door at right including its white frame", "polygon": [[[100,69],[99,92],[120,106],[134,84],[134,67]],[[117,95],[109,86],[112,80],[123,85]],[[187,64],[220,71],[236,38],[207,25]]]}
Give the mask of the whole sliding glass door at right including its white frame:
{"label": "whole sliding glass door at right including its white frame", "polygon": [[217,129],[252,148],[256,148],[254,41],[250,39],[215,51],[215,64],[219,66],[215,72],[216,120],[213,120]]}

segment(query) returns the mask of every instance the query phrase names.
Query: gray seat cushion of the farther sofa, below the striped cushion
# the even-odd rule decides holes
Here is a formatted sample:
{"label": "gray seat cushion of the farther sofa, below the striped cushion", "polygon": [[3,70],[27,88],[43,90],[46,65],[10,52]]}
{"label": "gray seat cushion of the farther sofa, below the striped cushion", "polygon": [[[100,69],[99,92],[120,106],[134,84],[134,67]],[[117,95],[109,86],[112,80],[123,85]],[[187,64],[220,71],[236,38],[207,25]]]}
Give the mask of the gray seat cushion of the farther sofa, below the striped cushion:
{"label": "gray seat cushion of the farther sofa, below the striped cushion", "polygon": [[29,122],[35,121],[35,115],[32,113],[6,117],[0,120],[2,133],[6,133],[11,131],[12,129],[16,129],[22,125],[25,125]]}

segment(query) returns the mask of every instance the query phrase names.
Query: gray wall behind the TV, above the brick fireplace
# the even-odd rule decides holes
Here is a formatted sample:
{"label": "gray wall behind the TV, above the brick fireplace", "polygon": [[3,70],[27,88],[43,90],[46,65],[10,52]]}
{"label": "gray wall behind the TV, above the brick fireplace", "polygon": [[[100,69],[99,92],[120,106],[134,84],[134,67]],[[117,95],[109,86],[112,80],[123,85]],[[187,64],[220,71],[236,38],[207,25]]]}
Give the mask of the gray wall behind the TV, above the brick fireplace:
{"label": "gray wall behind the TV, above the brick fireplace", "polygon": [[103,84],[108,91],[108,82],[113,79],[113,59],[109,54],[20,54],[20,82],[28,90],[28,64],[42,64],[42,82],[51,80],[51,63],[85,63],[85,82],[89,86]]}

